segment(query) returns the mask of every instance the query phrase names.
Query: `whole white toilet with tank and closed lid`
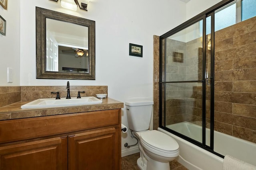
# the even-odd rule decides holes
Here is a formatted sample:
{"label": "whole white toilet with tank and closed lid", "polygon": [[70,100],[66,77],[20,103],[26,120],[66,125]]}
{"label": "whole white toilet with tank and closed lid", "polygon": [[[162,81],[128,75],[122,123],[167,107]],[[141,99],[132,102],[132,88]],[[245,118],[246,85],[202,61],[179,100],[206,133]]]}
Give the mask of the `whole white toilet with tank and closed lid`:
{"label": "whole white toilet with tank and closed lid", "polygon": [[170,170],[169,162],[179,155],[178,143],[169,135],[148,130],[153,102],[132,99],[125,102],[129,129],[138,138],[140,158],[137,165],[141,170]]}

